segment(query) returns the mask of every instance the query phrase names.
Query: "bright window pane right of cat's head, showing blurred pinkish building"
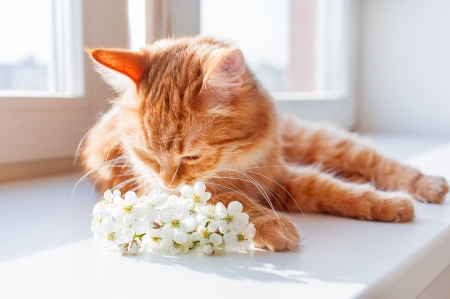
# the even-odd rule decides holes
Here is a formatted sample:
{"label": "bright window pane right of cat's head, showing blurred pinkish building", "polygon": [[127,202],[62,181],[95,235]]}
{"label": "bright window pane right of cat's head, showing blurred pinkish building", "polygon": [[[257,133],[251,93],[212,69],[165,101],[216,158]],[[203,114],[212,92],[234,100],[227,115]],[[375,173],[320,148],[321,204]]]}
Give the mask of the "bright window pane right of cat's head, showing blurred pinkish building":
{"label": "bright window pane right of cat's head, showing blurred pinkish building", "polygon": [[201,33],[234,42],[267,90],[315,90],[315,0],[202,0],[200,15]]}

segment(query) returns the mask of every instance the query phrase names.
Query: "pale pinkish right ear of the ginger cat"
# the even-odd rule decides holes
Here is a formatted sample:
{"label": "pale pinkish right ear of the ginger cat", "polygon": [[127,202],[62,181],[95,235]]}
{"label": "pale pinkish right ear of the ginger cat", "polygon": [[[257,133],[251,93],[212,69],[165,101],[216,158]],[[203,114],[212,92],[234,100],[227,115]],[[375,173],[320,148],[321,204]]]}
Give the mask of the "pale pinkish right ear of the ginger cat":
{"label": "pale pinkish right ear of the ginger cat", "polygon": [[203,87],[224,94],[233,93],[242,85],[244,73],[245,61],[241,50],[229,50],[207,64]]}

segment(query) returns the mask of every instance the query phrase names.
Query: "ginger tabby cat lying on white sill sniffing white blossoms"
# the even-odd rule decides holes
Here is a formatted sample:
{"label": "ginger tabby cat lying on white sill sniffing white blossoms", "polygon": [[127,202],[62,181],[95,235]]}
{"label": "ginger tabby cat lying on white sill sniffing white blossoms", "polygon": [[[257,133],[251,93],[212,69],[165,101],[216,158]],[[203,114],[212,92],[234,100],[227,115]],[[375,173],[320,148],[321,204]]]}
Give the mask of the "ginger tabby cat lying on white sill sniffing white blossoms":
{"label": "ginger tabby cat lying on white sill sniffing white blossoms", "polygon": [[300,236],[275,210],[408,221],[412,198],[440,203],[449,190],[354,134],[279,115],[232,45],[199,36],[89,53],[119,94],[82,151],[99,191],[170,193],[201,180],[213,201],[243,204],[257,246],[280,251]]}

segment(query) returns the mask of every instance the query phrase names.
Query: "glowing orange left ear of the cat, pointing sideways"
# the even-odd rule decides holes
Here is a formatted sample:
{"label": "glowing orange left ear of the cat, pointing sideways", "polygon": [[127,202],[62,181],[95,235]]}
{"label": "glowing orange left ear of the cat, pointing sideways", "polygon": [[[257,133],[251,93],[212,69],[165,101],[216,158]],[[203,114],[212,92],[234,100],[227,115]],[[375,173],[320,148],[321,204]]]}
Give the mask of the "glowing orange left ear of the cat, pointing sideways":
{"label": "glowing orange left ear of the cat, pointing sideways", "polygon": [[143,52],[103,48],[87,51],[96,62],[124,74],[136,85],[139,84],[139,80],[145,72],[146,58]]}

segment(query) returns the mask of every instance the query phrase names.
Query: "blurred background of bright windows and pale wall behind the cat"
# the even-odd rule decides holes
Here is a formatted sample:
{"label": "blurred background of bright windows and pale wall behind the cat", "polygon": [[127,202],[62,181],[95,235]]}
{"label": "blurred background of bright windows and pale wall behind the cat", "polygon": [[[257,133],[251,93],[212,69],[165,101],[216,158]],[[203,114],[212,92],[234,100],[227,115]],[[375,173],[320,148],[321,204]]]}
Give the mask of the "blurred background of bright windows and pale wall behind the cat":
{"label": "blurred background of bright windows and pale wall behind the cat", "polygon": [[73,170],[111,89],[83,47],[234,43],[287,113],[450,139],[448,0],[0,0],[0,180]]}

